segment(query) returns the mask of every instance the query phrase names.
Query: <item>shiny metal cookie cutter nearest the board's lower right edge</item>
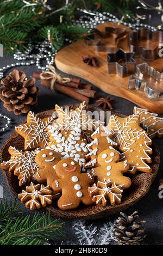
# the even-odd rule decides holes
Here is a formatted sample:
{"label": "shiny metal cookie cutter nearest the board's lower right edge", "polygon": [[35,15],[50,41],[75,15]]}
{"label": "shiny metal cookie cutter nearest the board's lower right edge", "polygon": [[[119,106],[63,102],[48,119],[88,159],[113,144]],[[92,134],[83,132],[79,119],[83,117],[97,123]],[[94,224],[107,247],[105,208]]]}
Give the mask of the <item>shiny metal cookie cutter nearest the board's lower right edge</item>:
{"label": "shiny metal cookie cutter nearest the board's lower right edge", "polygon": [[163,72],[160,73],[147,63],[142,63],[136,65],[136,76],[130,76],[128,89],[141,90],[146,93],[147,97],[153,100],[163,100],[163,90],[156,88],[162,81]]}

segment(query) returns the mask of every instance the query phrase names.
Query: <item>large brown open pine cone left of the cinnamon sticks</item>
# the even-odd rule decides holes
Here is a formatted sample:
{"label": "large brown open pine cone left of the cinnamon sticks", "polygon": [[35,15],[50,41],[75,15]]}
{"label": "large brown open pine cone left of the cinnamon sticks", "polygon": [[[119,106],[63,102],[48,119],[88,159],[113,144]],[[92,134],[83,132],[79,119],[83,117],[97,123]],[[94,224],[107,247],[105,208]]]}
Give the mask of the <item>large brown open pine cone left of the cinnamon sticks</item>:
{"label": "large brown open pine cone left of the cinnamon sticks", "polygon": [[3,106],[16,115],[29,112],[38,102],[39,88],[35,86],[35,78],[25,78],[23,71],[15,69],[1,80],[0,99]]}

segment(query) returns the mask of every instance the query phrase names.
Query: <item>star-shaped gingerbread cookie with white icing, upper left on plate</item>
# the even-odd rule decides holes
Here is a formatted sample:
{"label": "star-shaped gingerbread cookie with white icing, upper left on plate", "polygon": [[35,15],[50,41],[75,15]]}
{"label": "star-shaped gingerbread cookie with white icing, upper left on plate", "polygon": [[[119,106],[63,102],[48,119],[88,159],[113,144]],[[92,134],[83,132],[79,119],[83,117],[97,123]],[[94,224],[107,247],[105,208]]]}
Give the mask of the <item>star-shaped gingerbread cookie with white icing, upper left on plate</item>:
{"label": "star-shaped gingerbread cookie with white icing, upper left on plate", "polygon": [[30,111],[27,115],[27,123],[15,127],[15,131],[25,140],[24,149],[45,148],[49,142],[46,128],[52,125],[53,121],[53,117],[41,119]]}

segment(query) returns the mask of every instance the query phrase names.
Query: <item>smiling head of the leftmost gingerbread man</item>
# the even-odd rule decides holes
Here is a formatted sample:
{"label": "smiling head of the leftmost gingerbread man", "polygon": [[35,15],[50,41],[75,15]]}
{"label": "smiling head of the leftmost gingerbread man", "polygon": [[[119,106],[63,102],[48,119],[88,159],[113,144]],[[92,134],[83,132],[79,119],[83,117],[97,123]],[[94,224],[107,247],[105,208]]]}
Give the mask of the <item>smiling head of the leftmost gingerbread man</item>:
{"label": "smiling head of the leftmost gingerbread man", "polygon": [[52,166],[60,161],[60,154],[56,153],[54,150],[43,149],[35,157],[37,165],[41,168],[44,166]]}

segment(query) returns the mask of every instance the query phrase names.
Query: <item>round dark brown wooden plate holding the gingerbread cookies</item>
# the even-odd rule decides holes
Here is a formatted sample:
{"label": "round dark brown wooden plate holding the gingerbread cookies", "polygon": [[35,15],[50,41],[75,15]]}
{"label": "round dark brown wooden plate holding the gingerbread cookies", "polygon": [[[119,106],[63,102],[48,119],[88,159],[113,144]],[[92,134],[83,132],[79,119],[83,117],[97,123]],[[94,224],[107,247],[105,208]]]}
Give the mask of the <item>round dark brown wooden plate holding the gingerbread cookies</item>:
{"label": "round dark brown wooden plate holding the gingerbread cookies", "polygon": [[[71,108],[76,108],[77,105],[71,105]],[[101,108],[96,106],[87,106],[87,110],[89,111],[101,111]],[[53,110],[45,111],[39,113],[40,118],[48,117],[53,113]],[[114,112],[115,113],[115,112]],[[117,113],[121,117],[124,115]],[[7,161],[10,158],[8,153],[8,148],[16,147],[19,150],[23,150],[24,147],[24,139],[14,132],[8,140],[4,143],[2,149],[0,149],[0,162]],[[80,218],[86,220],[92,220],[97,218],[108,217],[110,215],[117,214],[118,212],[128,208],[129,206],[135,204],[139,201],[145,194],[149,191],[149,188],[152,185],[152,182],[155,179],[156,174],[158,173],[159,163],[160,163],[160,152],[159,149],[153,144],[153,155],[152,155],[152,173],[136,173],[131,175],[132,185],[123,191],[122,203],[117,204],[115,206],[84,206],[81,205],[77,210],[60,210],[57,206],[57,202],[53,202],[51,206],[46,208],[47,211],[50,211],[51,214],[55,217],[60,218]],[[22,188],[18,186],[18,179],[13,173],[2,170],[5,178],[7,179],[9,190],[17,197],[17,194],[22,191]]]}

